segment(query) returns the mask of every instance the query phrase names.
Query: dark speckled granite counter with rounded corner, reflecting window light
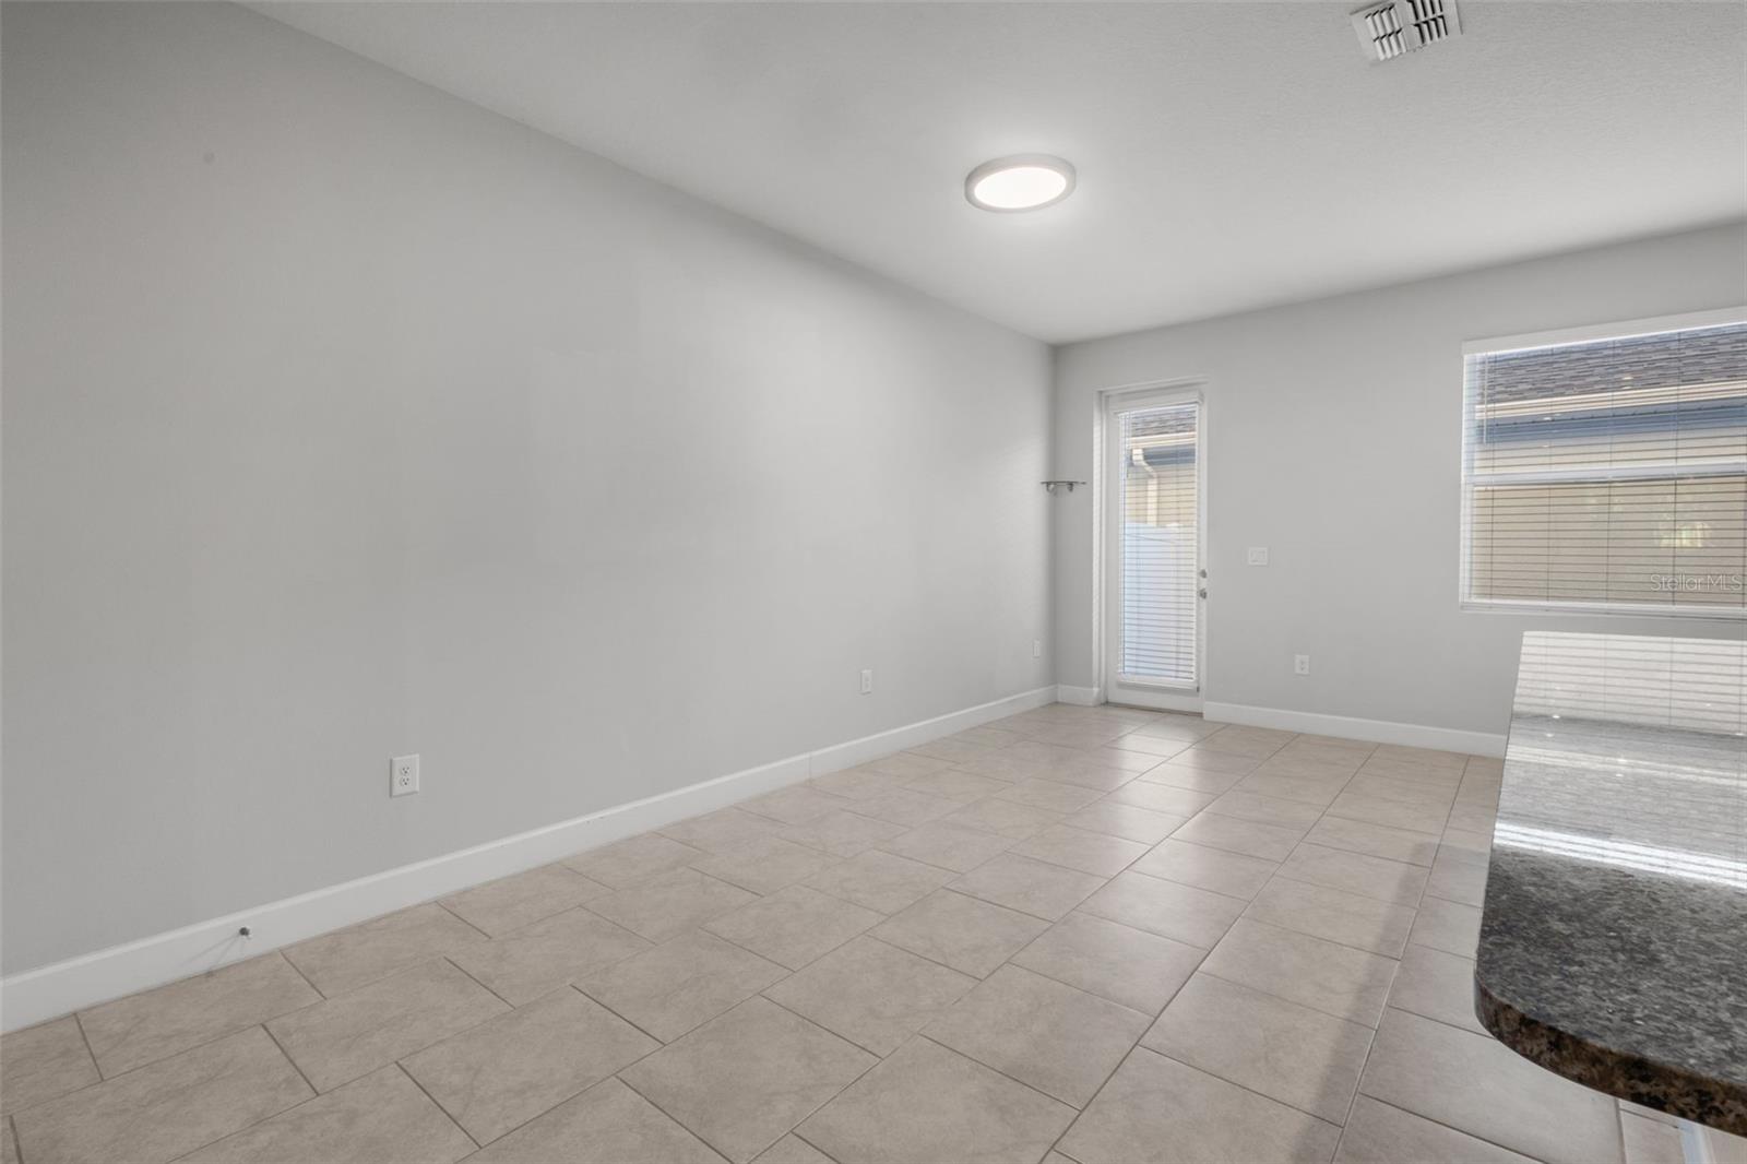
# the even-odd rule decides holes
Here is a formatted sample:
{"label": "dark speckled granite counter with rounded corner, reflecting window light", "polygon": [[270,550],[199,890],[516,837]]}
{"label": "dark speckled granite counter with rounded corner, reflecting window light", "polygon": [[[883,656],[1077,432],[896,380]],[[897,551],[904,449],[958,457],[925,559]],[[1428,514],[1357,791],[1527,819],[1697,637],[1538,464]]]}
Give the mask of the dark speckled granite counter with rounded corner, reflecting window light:
{"label": "dark speckled granite counter with rounded corner, reflecting window light", "polygon": [[1518,1054],[1737,1134],[1744,729],[1744,641],[1523,634],[1474,970]]}

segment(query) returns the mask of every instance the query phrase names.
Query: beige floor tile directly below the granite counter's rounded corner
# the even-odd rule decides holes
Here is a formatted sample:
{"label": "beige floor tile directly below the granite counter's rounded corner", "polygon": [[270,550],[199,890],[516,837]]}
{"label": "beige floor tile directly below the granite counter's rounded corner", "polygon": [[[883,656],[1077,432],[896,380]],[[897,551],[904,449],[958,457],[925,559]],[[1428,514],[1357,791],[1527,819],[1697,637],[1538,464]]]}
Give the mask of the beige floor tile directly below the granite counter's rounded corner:
{"label": "beige floor tile directly below the granite counter's rounded corner", "polygon": [[1614,1101],[1502,1043],[1389,1010],[1359,1091],[1550,1164],[1619,1161]]}

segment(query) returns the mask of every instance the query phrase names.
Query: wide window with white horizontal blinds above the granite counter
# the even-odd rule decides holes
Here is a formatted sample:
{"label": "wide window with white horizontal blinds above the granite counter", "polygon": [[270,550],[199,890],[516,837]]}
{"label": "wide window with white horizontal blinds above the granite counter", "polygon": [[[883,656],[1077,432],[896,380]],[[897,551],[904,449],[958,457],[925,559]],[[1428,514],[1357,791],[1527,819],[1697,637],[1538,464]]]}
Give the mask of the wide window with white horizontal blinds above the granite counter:
{"label": "wide window with white horizontal blinds above the granite counter", "polygon": [[1469,344],[1462,421],[1466,603],[1747,613],[1747,313]]}

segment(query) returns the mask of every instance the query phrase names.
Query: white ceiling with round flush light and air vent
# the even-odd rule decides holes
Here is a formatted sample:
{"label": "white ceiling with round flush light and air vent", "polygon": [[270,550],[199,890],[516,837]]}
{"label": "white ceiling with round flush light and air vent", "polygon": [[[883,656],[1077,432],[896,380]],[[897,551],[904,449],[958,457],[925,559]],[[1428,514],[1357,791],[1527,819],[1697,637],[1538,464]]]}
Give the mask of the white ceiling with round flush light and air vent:
{"label": "white ceiling with round flush light and air vent", "polygon": [[1747,5],[1356,3],[252,7],[1052,343],[1742,217]]}

